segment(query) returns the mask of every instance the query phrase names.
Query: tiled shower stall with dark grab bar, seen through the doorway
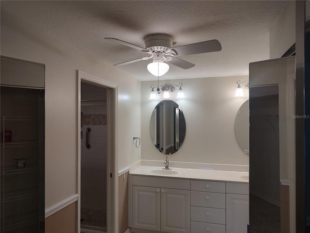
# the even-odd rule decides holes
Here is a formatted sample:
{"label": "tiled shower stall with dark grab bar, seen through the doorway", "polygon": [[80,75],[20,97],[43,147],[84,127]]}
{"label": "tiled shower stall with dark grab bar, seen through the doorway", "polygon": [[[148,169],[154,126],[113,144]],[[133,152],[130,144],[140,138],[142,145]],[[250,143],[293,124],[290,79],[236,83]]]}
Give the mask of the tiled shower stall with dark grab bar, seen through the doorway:
{"label": "tiled shower stall with dark grab bar, seen through the doorway", "polygon": [[81,82],[81,233],[107,232],[107,89]]}

